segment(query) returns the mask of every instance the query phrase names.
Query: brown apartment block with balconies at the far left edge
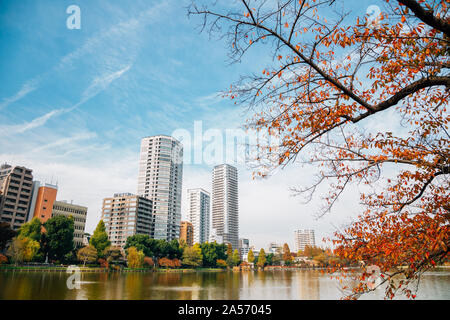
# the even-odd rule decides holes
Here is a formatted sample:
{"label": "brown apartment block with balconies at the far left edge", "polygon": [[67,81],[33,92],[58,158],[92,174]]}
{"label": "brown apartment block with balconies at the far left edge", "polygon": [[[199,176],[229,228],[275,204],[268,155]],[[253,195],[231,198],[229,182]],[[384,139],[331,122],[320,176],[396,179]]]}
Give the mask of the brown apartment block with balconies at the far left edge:
{"label": "brown apartment block with balconies at the far left edge", "polygon": [[33,187],[32,170],[3,164],[0,166],[0,221],[17,230],[27,221]]}

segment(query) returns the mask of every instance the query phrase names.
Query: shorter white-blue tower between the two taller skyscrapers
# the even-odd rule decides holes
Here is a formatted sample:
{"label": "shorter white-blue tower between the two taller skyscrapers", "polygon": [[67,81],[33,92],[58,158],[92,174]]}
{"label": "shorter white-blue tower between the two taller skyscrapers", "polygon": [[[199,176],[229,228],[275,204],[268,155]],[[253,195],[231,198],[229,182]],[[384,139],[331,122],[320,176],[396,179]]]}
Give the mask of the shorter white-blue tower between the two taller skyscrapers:
{"label": "shorter white-blue tower between the two taller skyscrapers", "polygon": [[189,189],[189,221],[194,227],[194,243],[204,243],[209,240],[210,220],[209,192],[203,189]]}

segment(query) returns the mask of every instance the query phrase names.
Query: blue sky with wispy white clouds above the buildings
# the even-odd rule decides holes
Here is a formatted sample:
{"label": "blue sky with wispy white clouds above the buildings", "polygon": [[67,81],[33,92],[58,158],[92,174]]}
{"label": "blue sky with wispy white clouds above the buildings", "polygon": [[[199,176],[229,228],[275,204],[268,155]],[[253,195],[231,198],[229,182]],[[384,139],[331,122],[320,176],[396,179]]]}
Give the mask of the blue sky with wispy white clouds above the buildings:
{"label": "blue sky with wispy white clouds above the buildings", "polygon": [[[89,207],[89,232],[104,197],[136,192],[142,137],[192,131],[194,121],[204,130],[244,123],[243,109],[217,94],[239,75],[262,70],[270,54],[253,50],[230,65],[225,43],[199,34],[199,20],[188,19],[188,3],[1,1],[0,162],[57,181],[60,200]],[[66,27],[72,4],[81,8],[80,30]],[[340,214],[316,221],[317,203],[302,205],[288,190],[310,178],[307,170],[253,181],[250,170],[239,169],[240,234],[257,247],[292,243],[295,228],[315,228],[321,238],[357,211],[341,205]],[[185,166],[183,202],[187,188],[210,190],[211,170]]]}

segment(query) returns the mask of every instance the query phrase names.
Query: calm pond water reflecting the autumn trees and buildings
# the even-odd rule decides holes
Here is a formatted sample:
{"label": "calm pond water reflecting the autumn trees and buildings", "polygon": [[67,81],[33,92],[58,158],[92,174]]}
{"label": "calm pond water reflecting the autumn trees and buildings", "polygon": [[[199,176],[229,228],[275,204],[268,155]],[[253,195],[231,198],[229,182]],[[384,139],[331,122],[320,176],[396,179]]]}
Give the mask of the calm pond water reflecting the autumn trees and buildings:
{"label": "calm pond water reflecting the autumn trees and buildings", "polygon": [[[450,300],[450,270],[423,275],[417,299]],[[69,290],[67,273],[0,272],[0,299],[339,299],[320,271],[85,273]],[[382,299],[383,290],[365,298]]]}

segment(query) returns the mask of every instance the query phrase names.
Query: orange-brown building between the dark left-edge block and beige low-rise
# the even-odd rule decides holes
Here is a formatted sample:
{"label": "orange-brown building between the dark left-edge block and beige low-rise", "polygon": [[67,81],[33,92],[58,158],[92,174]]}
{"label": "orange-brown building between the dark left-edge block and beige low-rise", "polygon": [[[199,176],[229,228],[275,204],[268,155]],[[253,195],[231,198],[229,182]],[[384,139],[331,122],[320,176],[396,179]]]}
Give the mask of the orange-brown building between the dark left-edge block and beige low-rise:
{"label": "orange-brown building between the dark left-edge block and beige low-rise", "polygon": [[[32,199],[32,207],[34,207],[33,217],[39,218],[42,223],[46,222],[52,217],[53,204],[56,201],[56,194],[58,193],[58,186],[45,183],[36,190],[33,187],[33,192],[37,191],[35,199]],[[33,197],[34,198],[34,194]]]}

